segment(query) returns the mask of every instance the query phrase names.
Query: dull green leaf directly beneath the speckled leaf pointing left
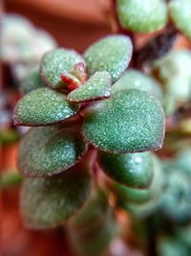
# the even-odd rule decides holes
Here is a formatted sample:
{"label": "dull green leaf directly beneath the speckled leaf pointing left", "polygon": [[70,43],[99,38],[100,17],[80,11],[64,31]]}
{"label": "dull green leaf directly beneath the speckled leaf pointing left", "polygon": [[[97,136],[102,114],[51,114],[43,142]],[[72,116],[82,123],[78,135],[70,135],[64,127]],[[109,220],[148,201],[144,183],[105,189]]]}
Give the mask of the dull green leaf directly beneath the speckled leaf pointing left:
{"label": "dull green leaf directly beneath the speckled leaf pointing left", "polygon": [[32,128],[21,140],[18,169],[26,176],[59,174],[73,166],[86,151],[79,133],[59,125]]}

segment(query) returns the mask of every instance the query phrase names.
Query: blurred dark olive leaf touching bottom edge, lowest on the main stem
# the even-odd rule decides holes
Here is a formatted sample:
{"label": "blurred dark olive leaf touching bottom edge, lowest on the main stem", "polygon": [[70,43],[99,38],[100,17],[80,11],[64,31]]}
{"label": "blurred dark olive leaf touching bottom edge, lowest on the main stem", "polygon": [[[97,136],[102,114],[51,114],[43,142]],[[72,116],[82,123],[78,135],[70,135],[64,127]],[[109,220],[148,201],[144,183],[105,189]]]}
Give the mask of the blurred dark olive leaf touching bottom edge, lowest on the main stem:
{"label": "blurred dark olive leaf touching bottom edge, lowest on the main stem", "polygon": [[[117,221],[113,209],[107,204],[105,211],[102,211],[102,199],[100,201],[97,199],[98,198],[93,198],[92,201],[89,201],[90,204],[87,204],[88,207],[85,205],[85,209],[83,208],[82,211],[79,212],[79,216],[81,215],[81,217],[76,215],[78,221],[79,218],[81,221],[84,221],[84,226],[78,225],[78,221],[77,223],[75,221],[72,225],[69,225],[69,238],[76,255],[103,255],[109,247],[109,244],[115,236],[117,236]],[[100,202],[100,205],[98,202]],[[93,209],[91,209],[91,205]],[[97,206],[97,208],[95,206]],[[95,214],[93,212],[94,207]],[[85,215],[88,218],[87,222]],[[89,221],[91,221],[91,219],[92,223],[90,225]]]}

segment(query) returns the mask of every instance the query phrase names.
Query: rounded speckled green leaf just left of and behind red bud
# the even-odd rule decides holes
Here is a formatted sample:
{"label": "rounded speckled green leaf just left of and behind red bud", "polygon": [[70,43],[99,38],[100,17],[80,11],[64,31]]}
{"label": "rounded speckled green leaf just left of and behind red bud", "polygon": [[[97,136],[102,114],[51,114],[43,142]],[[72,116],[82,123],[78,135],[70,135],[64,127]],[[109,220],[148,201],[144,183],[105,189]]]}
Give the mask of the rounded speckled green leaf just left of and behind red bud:
{"label": "rounded speckled green leaf just left of and behind red bud", "polygon": [[47,53],[40,63],[40,75],[53,89],[63,86],[62,74],[68,74],[74,64],[84,62],[83,58],[73,50],[58,48]]}

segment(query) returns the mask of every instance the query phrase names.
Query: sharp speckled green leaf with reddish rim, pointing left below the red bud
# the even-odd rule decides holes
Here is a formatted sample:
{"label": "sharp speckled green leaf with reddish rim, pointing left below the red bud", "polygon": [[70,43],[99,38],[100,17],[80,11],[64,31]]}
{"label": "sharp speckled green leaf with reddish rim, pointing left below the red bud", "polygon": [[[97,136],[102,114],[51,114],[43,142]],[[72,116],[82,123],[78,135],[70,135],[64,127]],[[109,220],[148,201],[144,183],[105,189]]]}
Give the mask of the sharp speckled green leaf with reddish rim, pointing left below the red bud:
{"label": "sharp speckled green leaf with reddish rim, pointing left below the red bud", "polygon": [[49,88],[39,88],[24,96],[14,109],[15,126],[46,126],[73,116],[77,105],[66,96]]}

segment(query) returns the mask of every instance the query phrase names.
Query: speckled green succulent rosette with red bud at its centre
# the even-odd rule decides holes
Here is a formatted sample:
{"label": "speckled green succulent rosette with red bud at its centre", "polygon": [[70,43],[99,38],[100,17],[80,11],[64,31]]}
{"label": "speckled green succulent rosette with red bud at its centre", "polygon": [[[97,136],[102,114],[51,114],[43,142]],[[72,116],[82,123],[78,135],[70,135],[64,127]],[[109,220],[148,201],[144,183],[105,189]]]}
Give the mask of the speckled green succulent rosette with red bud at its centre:
{"label": "speckled green succulent rosette with red bud at its centre", "polygon": [[[83,56],[58,48],[22,82],[26,94],[13,121],[32,127],[18,152],[18,170],[26,176],[21,209],[28,226],[57,226],[82,207],[90,191],[87,174],[94,176],[86,171],[89,144],[114,180],[138,189],[150,186],[153,163],[145,151],[161,148],[165,117],[156,81],[130,71],[131,83],[118,83],[132,53],[127,35],[108,35]],[[134,85],[138,81],[141,88]]]}

